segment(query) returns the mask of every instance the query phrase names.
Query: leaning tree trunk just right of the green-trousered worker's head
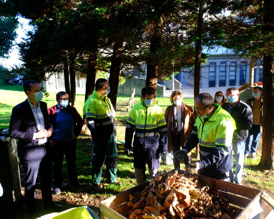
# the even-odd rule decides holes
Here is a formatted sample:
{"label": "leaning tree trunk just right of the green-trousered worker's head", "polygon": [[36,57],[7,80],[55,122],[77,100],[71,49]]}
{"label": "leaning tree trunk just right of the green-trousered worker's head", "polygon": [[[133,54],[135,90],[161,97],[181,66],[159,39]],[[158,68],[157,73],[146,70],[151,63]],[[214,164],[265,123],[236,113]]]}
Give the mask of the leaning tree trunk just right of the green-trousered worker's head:
{"label": "leaning tree trunk just right of the green-trousered worker's head", "polygon": [[111,69],[110,69],[109,80],[108,80],[109,86],[111,88],[111,92],[107,95],[107,97],[111,100],[114,110],[116,110],[119,75],[120,75],[121,63],[122,63],[122,56],[121,56],[122,49],[123,49],[123,41],[117,40],[116,42],[114,42],[113,54],[111,57]]}

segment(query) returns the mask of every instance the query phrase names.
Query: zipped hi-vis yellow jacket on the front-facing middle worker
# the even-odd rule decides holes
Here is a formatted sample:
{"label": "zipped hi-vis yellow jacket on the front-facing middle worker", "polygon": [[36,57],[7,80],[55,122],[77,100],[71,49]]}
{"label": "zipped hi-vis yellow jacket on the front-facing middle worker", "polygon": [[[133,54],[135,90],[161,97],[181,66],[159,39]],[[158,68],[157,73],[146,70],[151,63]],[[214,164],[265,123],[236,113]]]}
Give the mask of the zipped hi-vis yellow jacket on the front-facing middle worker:
{"label": "zipped hi-vis yellow jacket on the front-facing middle worker", "polygon": [[144,148],[159,146],[162,152],[167,152],[166,121],[155,99],[149,107],[143,103],[142,98],[140,103],[133,106],[125,130],[125,148],[131,149],[134,132],[133,145],[141,144]]}

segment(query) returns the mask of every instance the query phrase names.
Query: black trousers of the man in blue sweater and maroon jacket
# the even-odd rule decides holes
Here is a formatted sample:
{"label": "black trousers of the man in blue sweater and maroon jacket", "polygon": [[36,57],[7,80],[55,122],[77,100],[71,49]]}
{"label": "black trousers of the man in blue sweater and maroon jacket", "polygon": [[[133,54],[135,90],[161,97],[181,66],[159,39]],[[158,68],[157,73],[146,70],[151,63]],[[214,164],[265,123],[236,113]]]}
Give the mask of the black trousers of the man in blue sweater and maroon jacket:
{"label": "black trousers of the man in blue sweater and maroon jacket", "polygon": [[52,150],[54,186],[60,188],[63,184],[62,166],[64,154],[68,166],[68,179],[71,185],[75,185],[78,175],[76,173],[76,144],[74,140],[68,143],[57,143],[56,145],[52,145]]}

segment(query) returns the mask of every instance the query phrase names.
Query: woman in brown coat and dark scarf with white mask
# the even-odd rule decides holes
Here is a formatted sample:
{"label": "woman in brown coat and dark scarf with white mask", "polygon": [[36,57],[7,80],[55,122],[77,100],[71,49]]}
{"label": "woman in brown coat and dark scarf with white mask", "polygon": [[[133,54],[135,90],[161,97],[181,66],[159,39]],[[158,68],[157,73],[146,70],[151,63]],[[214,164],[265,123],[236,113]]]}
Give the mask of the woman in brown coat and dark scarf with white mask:
{"label": "woman in brown coat and dark scarf with white mask", "polygon": [[[174,153],[184,148],[188,137],[191,135],[195,123],[195,117],[191,106],[182,102],[183,94],[179,90],[171,93],[170,102],[165,112],[167,122],[167,151]],[[191,163],[191,152],[184,160],[184,164]],[[180,161],[173,157],[174,168],[180,169]]]}

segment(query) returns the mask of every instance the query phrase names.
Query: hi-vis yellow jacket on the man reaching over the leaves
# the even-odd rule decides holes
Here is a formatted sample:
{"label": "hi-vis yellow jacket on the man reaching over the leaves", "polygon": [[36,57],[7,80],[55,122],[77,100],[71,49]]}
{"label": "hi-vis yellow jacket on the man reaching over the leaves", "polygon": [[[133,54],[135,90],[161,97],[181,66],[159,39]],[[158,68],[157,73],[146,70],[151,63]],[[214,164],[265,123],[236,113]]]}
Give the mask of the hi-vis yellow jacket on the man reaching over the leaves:
{"label": "hi-vis yellow jacket on the man reaching over the leaves", "polygon": [[200,168],[226,173],[233,167],[232,137],[236,124],[226,110],[219,104],[215,106],[217,109],[209,120],[197,117],[184,149],[190,152],[199,144]]}

